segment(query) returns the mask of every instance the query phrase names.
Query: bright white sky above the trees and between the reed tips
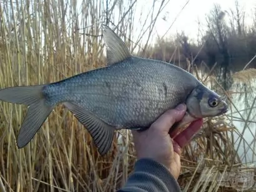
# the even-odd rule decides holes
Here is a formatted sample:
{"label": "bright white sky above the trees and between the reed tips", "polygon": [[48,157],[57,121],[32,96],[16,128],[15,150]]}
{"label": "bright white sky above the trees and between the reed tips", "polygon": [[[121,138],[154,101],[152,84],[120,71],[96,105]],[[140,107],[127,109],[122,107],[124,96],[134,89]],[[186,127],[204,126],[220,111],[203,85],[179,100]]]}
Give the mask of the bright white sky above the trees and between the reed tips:
{"label": "bright white sky above the trees and between the reed tips", "polygon": [[[116,0],[109,0],[109,3],[112,5]],[[128,4],[131,0],[117,0],[117,2],[122,2],[123,4]],[[135,0],[133,0],[135,1]],[[132,2],[133,2],[132,1]],[[160,3],[162,0],[155,0],[154,12],[157,13]],[[239,5],[245,11],[245,23],[252,24],[253,12],[255,13],[256,9],[256,0],[237,0]],[[77,0],[78,12],[82,9],[82,0]],[[107,1],[102,1],[104,6],[106,6]],[[167,2],[167,0],[165,0]],[[164,3],[165,3],[164,2]],[[149,14],[150,9],[154,0],[137,0],[135,2],[135,16],[134,16],[134,31],[132,34],[132,41],[136,41],[142,30],[142,23],[145,22],[147,14]],[[157,21],[155,22],[154,31],[152,32],[151,39],[149,40],[150,44],[154,44],[157,37],[170,37],[175,36],[177,32],[184,31],[185,35],[189,39],[197,40],[199,34],[199,24],[200,21],[200,34],[204,34],[206,28],[205,16],[209,14],[210,10],[214,7],[214,4],[219,4],[222,11],[227,11],[228,14],[225,16],[225,20],[229,21],[231,18],[230,9],[235,10],[235,0],[169,0],[168,4],[160,13]],[[116,9],[116,21],[115,24],[119,22],[119,4],[117,3]],[[185,6],[185,7],[184,7]],[[182,10],[182,7],[184,9]],[[128,9],[126,7],[126,9]],[[126,10],[127,11],[127,10]],[[230,14],[230,16],[229,16]],[[81,15],[80,15],[81,16]],[[165,17],[165,19],[162,19]],[[177,18],[176,18],[177,17]],[[141,19],[141,21],[139,21]],[[175,20],[176,19],[176,20]],[[175,22],[174,22],[175,21]],[[147,22],[149,26],[150,20]],[[172,23],[174,24],[172,25]],[[172,26],[170,28],[170,26]],[[112,26],[111,26],[112,27]],[[169,29],[170,28],[170,29]],[[122,37],[121,37],[122,38]],[[144,44],[147,41],[148,34],[139,42]]]}

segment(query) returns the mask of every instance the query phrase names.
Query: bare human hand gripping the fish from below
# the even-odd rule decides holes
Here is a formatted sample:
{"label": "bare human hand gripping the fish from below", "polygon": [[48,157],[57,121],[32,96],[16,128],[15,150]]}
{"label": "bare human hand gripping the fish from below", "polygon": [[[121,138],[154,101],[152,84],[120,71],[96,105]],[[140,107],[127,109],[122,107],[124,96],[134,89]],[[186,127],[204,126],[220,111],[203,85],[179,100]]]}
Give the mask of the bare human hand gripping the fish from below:
{"label": "bare human hand gripping the fish from below", "polygon": [[174,140],[169,130],[185,115],[187,107],[179,105],[161,115],[150,128],[143,132],[132,131],[137,158],[151,158],[164,165],[177,180],[180,173],[180,151],[200,130],[202,119],[192,122]]}

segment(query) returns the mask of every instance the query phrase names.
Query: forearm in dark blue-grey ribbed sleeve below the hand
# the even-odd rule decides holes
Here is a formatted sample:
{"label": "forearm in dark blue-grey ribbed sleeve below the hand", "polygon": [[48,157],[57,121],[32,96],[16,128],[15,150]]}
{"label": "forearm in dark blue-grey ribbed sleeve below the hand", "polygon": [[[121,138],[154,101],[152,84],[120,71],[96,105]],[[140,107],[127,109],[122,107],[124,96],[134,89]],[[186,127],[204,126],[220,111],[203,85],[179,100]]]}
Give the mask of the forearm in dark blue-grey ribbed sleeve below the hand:
{"label": "forearm in dark blue-grey ribbed sleeve below the hand", "polygon": [[132,173],[122,191],[180,191],[175,178],[170,175],[165,166],[150,159],[141,159],[135,163],[134,173]]}

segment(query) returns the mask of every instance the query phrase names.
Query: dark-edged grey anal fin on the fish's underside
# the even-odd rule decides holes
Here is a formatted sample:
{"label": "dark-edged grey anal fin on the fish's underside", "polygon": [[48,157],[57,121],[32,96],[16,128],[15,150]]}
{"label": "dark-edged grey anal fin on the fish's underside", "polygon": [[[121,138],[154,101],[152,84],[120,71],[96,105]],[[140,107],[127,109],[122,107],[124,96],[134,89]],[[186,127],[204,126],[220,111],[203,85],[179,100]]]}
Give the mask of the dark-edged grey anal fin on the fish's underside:
{"label": "dark-edged grey anal fin on the fish's underside", "polygon": [[73,103],[65,102],[64,105],[87,128],[99,153],[105,155],[111,148],[115,128]]}

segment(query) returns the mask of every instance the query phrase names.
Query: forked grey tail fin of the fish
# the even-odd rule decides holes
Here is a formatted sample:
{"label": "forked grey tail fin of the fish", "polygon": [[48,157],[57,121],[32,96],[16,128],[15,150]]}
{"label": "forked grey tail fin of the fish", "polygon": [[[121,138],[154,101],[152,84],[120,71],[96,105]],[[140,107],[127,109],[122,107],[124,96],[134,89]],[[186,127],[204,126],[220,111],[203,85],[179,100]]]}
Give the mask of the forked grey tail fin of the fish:
{"label": "forked grey tail fin of the fish", "polygon": [[0,90],[0,100],[29,106],[17,137],[18,148],[24,147],[31,141],[54,108],[46,104],[46,99],[42,95],[43,87],[44,85],[36,85]]}

